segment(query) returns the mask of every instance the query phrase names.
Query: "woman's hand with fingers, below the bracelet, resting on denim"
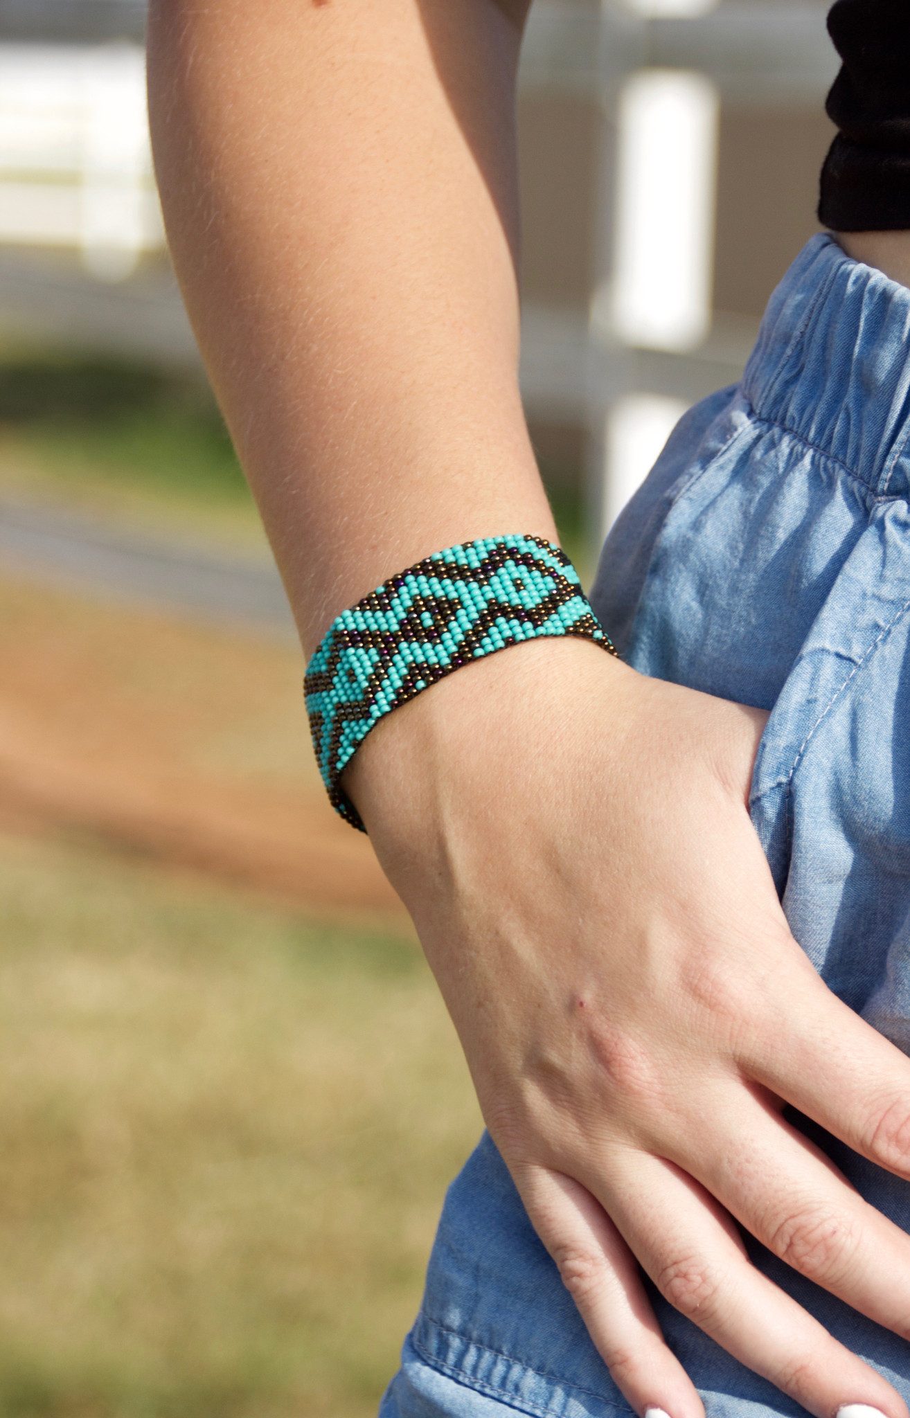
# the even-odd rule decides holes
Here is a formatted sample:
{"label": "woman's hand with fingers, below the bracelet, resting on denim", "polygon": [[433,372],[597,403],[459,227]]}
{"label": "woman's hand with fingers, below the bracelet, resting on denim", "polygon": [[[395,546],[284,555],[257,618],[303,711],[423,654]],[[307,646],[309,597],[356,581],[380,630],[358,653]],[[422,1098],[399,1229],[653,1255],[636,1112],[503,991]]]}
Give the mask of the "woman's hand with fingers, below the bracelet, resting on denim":
{"label": "woman's hand with fingers, below the bracelet, resting on denim", "polygon": [[781,1116],[910,1177],[910,1062],[794,942],[747,813],[765,715],[537,641],[390,715],[346,787],[489,1130],[632,1407],[700,1418],[638,1266],[818,1418],[896,1391],[736,1222],[910,1337],[910,1238]]}

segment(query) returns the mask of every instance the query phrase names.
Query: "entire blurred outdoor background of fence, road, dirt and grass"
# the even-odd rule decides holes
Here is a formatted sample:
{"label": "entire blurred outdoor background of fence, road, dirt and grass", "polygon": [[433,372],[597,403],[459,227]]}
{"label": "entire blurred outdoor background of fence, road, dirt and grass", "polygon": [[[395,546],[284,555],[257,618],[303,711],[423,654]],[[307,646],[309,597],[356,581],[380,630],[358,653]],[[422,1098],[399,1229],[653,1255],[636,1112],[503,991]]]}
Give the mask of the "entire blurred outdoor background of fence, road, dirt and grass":
{"label": "entire blurred outdoor background of fence, road, dirt and grass", "polygon": [[[815,0],[536,0],[522,387],[570,552],[816,230]],[[366,1418],[479,1132],[167,262],[140,0],[0,0],[0,1415]]]}

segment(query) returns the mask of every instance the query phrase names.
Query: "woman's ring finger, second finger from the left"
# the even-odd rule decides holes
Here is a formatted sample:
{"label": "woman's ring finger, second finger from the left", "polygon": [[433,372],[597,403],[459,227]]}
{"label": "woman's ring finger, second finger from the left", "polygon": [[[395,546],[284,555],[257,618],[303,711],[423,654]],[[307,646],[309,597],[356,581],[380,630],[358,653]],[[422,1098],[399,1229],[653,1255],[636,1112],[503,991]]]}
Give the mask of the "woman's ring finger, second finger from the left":
{"label": "woman's ring finger, second finger from the left", "polygon": [[[611,1157],[611,1215],[669,1303],[795,1402],[832,1418],[850,1404],[907,1418],[900,1395],[748,1261],[736,1227],[699,1183],[638,1154]],[[675,1415],[673,1415],[675,1418]]]}

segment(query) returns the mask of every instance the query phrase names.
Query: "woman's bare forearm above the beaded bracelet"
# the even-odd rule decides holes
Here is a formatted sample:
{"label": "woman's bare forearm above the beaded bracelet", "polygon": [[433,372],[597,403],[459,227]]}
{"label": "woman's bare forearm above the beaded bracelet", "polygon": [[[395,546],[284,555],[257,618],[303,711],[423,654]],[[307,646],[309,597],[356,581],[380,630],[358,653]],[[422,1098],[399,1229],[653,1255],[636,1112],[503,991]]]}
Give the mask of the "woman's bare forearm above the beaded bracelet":
{"label": "woman's bare forearm above the beaded bracelet", "polygon": [[306,649],[442,546],[553,536],[517,389],[495,0],[153,0],[170,247]]}

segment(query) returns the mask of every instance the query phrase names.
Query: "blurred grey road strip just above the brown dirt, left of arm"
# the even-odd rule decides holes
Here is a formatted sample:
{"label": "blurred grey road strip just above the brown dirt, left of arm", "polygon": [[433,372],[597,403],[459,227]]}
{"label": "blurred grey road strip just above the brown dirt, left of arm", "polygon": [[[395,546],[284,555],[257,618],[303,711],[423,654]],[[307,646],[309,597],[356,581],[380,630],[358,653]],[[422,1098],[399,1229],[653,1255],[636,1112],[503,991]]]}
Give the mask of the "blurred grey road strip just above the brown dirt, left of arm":
{"label": "blurred grey road strip just above the brown dirt, left of arm", "polygon": [[0,501],[0,571],[106,598],[293,635],[274,566],[169,543],[57,508]]}

